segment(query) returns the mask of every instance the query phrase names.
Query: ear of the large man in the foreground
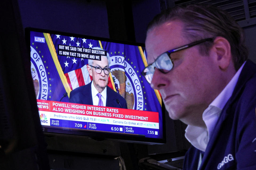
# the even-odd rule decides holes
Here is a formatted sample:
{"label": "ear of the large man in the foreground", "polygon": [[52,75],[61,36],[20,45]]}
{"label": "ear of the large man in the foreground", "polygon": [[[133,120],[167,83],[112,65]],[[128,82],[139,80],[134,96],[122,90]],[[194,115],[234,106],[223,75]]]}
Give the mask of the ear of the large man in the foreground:
{"label": "ear of the large man in the foreground", "polygon": [[212,48],[216,52],[215,61],[221,70],[226,70],[230,62],[232,63],[232,54],[230,43],[224,37],[216,37]]}

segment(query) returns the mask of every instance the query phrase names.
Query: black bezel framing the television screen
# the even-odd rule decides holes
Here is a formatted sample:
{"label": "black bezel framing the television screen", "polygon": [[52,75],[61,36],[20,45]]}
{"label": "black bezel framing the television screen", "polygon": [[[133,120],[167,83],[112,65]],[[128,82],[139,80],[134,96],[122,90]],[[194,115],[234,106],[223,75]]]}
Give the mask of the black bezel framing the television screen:
{"label": "black bezel framing the television screen", "polygon": [[[62,31],[54,31],[54,30],[48,30],[48,29],[41,29],[41,28],[32,28],[32,27],[26,27],[25,28],[25,38],[26,38],[26,45],[28,51],[30,51],[30,31],[34,32],[42,32],[42,33],[50,33],[50,34],[56,34],[56,35],[63,35],[63,36],[73,36],[73,37],[79,37],[79,38],[86,38],[86,39],[93,39],[93,40],[100,40],[100,41],[107,41],[110,43],[120,43],[120,44],[127,44],[127,45],[134,45],[134,46],[142,46],[145,47],[145,44],[143,43],[135,43],[130,41],[121,41],[121,40],[113,40],[109,38],[104,37],[96,37],[96,36],[89,36],[89,35],[82,35],[82,34],[76,34],[76,33],[70,33],[70,32],[62,32]],[[30,57],[30,56],[28,56]],[[30,75],[31,76],[31,75]],[[54,129],[53,127],[48,128],[45,125],[42,125],[42,129],[44,134],[47,135],[58,135],[58,134],[66,134],[66,135],[79,135],[79,136],[85,136],[90,137],[96,140],[104,140],[104,139],[117,139],[121,142],[128,142],[128,143],[142,143],[142,144],[164,144],[166,143],[166,127],[165,127],[165,106],[162,101],[162,129],[163,129],[163,138],[148,138],[148,137],[137,137],[137,135],[126,135],[126,134],[116,134],[116,133],[108,133],[103,131],[72,131],[72,130],[62,130],[62,129]],[[45,129],[46,128],[46,129]],[[50,130],[49,130],[50,129]],[[65,133],[64,133],[65,132]]]}

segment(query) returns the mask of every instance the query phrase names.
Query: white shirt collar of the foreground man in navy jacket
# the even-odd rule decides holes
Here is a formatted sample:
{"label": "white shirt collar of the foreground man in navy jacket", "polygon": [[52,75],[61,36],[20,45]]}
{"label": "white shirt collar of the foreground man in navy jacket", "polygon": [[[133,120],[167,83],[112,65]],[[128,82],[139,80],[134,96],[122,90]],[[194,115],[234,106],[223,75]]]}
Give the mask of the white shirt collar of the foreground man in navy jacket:
{"label": "white shirt collar of the foreground man in navy jacket", "polygon": [[185,130],[185,137],[197,149],[205,152],[210,136],[214,131],[214,126],[219,118],[222,109],[224,108],[225,104],[227,103],[234,91],[238,77],[244,65],[245,62],[239,68],[237,73],[235,73],[234,77],[230,80],[230,82],[222,90],[222,92],[213,100],[213,102],[211,102],[209,107],[203,112],[202,118],[207,128],[201,128],[193,125],[187,126]]}

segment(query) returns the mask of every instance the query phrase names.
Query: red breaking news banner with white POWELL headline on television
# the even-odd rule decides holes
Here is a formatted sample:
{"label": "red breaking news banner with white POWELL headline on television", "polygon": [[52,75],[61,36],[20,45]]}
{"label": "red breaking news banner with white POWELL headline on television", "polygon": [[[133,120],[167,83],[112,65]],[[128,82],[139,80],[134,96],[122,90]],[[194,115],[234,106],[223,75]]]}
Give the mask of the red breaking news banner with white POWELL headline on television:
{"label": "red breaking news banner with white POWELL headline on television", "polygon": [[138,111],[132,109],[121,109],[102,107],[85,104],[66,103],[50,100],[37,100],[39,111],[78,114],[97,117],[109,117],[126,120],[137,120],[145,122],[159,122],[158,112]]}

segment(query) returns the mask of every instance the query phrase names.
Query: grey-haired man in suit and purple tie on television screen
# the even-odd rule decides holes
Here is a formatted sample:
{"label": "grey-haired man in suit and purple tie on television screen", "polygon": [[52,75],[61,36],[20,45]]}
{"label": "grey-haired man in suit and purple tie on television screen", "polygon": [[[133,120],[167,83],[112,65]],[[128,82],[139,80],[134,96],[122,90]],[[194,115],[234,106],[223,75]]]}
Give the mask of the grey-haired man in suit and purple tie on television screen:
{"label": "grey-haired man in suit and purple tie on television screen", "polygon": [[[102,50],[99,47],[93,49]],[[107,86],[110,74],[109,63],[109,54],[101,56],[101,61],[88,60],[87,70],[93,80],[85,86],[72,90],[69,102],[127,109],[126,100]]]}

